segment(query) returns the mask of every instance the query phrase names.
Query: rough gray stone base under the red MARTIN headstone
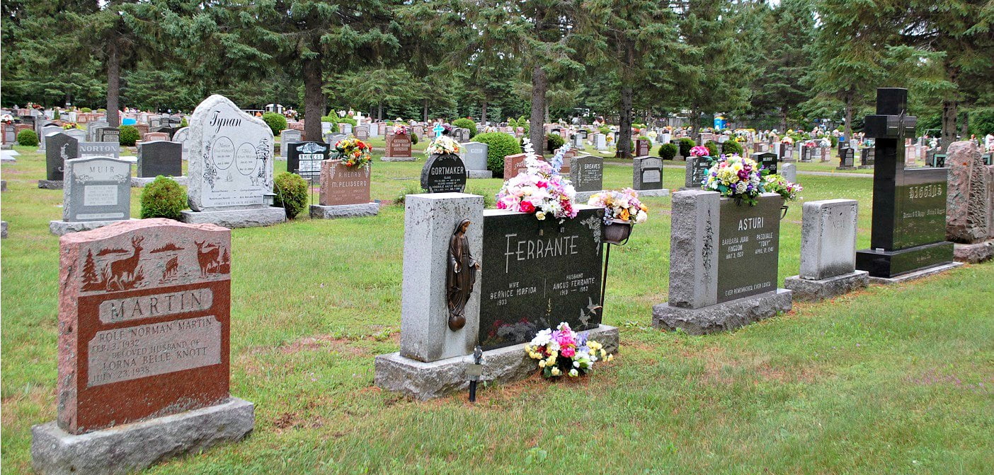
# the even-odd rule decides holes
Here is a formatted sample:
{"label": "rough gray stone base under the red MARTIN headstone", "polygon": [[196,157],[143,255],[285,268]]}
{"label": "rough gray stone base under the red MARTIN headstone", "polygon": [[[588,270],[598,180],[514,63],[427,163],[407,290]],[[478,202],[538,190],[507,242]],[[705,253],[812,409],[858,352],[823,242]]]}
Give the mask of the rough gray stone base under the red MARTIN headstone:
{"label": "rough gray stone base under the red MARTIN headstone", "polygon": [[254,424],[254,405],[238,398],[80,435],[48,422],[31,427],[31,464],[46,475],[131,473],[167,458],[242,440]]}

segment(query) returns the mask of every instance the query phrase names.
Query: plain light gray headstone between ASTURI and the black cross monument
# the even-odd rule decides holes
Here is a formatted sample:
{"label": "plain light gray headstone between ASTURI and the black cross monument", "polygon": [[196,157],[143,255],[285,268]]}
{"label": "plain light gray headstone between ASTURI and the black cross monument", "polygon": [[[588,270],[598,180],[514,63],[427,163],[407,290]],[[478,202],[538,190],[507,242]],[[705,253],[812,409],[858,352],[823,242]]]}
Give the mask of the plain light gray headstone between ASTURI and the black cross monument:
{"label": "plain light gray headstone between ASTURI and the black cross monument", "polygon": [[803,204],[800,273],[784,280],[794,298],[821,300],[869,285],[869,274],[856,270],[857,206],[855,199]]}

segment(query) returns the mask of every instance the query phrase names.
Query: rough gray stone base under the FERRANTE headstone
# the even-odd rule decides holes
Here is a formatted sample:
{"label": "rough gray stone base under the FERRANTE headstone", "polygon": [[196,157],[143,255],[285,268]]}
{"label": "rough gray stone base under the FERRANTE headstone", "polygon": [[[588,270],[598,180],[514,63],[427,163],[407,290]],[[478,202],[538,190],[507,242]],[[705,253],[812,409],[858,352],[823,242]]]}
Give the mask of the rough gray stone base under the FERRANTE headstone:
{"label": "rough gray stone base under the FERRANTE headstone", "polygon": [[[604,346],[608,353],[618,351],[618,329],[600,325],[589,330],[589,338]],[[525,354],[521,343],[483,352],[483,375],[481,382],[512,383],[538,373],[538,360]],[[454,356],[424,363],[406,358],[398,353],[376,357],[374,381],[377,386],[388,391],[402,393],[417,401],[441,398],[447,394],[466,391],[469,377],[466,368],[472,363],[472,355]],[[594,368],[596,372],[596,368]]]}

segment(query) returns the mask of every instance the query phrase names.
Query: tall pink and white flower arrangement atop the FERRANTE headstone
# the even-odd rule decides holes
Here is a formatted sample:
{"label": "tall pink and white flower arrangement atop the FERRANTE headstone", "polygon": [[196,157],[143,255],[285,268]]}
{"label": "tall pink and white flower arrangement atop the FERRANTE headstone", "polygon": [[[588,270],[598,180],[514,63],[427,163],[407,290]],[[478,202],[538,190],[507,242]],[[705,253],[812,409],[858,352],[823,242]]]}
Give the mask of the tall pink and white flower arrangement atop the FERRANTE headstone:
{"label": "tall pink and white flower arrangement atop the FERRANTE headstone", "polygon": [[[563,147],[559,151],[563,151]],[[562,166],[563,158],[559,151],[558,161]],[[497,192],[497,209],[533,213],[540,220],[552,216],[563,222],[577,217],[578,210],[573,202],[577,190],[570,180],[560,176],[559,168],[554,168],[553,164],[539,160],[527,139],[525,154],[526,170],[504,181]],[[554,157],[553,160],[557,159]]]}

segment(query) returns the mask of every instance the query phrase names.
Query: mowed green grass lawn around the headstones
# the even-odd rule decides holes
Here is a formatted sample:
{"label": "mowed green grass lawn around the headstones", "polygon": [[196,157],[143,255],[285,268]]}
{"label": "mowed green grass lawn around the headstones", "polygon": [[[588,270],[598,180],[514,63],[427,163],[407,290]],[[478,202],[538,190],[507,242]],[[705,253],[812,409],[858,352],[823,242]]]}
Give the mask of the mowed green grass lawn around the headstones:
{"label": "mowed green grass lawn around the headstones", "polygon": [[[4,473],[29,472],[31,425],[56,417],[48,222],[62,191],[38,189],[44,157],[18,150],[2,166]],[[373,197],[394,199],[422,165],[376,162]],[[683,173],[664,178],[676,188]],[[801,182],[805,200],[859,199],[869,245],[872,180]],[[605,186],[630,183],[630,168],[605,167]],[[667,294],[670,198],[646,201],[650,220],[612,253],[604,322],[621,329],[618,358],[579,381],[489,386],[476,405],[373,385],[374,356],[399,348],[403,208],[234,230],[232,394],[255,404],[255,430],[146,473],[990,473],[994,264],[795,303],[731,333],[665,333],[649,322]],[[800,207],[781,221],[781,280],[799,266]]]}

